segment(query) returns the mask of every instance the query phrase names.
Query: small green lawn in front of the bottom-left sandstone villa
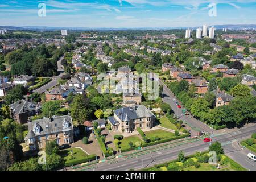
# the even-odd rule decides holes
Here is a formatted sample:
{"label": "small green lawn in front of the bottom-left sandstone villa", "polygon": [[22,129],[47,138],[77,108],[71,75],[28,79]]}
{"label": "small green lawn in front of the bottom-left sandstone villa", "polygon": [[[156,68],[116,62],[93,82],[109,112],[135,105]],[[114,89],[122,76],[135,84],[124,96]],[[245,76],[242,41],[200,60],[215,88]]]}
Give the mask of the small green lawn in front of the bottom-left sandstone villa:
{"label": "small green lawn in front of the bottom-left sandstone villa", "polygon": [[[70,151],[73,151],[73,159],[71,158]],[[65,162],[75,162],[76,160],[84,159],[88,154],[82,151],[80,148],[69,148],[67,150],[61,150],[60,155],[63,156]]]}

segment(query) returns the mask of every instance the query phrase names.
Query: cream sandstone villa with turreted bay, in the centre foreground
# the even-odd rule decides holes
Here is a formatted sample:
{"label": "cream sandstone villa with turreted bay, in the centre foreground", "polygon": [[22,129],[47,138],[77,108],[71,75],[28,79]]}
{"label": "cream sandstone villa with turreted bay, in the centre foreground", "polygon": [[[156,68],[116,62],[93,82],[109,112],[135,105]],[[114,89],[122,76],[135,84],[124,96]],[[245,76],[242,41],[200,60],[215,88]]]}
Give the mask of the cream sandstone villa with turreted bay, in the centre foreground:
{"label": "cream sandstone villa with turreted bay, in the centre foreground", "polygon": [[141,129],[151,129],[154,121],[154,114],[144,105],[123,107],[114,110],[113,117],[108,117],[112,130],[119,131],[120,133],[131,133],[138,127]]}

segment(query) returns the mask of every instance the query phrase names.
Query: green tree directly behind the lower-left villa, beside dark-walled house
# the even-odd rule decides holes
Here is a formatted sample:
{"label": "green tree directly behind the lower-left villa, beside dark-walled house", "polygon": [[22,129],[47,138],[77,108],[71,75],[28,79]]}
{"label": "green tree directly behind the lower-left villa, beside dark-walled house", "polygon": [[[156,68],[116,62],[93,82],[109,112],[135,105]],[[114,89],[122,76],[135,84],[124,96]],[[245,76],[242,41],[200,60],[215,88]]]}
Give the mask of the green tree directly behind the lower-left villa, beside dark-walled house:
{"label": "green tree directly behind the lower-left villa, beside dark-walled house", "polygon": [[45,117],[52,117],[60,110],[60,101],[48,101],[42,104],[42,114]]}

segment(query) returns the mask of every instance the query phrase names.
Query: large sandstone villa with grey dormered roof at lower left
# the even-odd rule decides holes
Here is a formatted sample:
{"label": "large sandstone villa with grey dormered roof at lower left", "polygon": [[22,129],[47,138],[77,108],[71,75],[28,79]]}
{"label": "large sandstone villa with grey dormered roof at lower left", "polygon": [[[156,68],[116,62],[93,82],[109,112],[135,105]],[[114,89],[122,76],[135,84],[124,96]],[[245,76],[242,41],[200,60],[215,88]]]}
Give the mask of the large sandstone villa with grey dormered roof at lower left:
{"label": "large sandstone villa with grey dormered roof at lower left", "polygon": [[25,142],[30,150],[44,148],[46,142],[54,140],[59,145],[73,143],[73,122],[70,115],[28,122]]}

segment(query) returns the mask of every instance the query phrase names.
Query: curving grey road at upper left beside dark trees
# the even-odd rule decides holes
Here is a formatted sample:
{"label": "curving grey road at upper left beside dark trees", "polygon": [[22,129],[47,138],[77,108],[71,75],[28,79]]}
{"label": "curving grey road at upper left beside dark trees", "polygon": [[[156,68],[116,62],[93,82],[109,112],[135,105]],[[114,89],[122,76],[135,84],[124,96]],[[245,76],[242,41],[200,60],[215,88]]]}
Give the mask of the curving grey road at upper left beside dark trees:
{"label": "curving grey road at upper left beside dark trees", "polygon": [[40,94],[46,92],[47,89],[53,88],[54,86],[56,86],[58,84],[58,80],[60,79],[61,76],[63,76],[64,73],[64,69],[61,66],[61,60],[64,59],[63,57],[60,57],[59,61],[57,61],[57,72],[59,73],[58,76],[53,76],[53,77],[49,77],[52,79],[52,81],[48,82],[48,84],[41,86],[40,88],[34,90],[33,92],[38,92]]}

